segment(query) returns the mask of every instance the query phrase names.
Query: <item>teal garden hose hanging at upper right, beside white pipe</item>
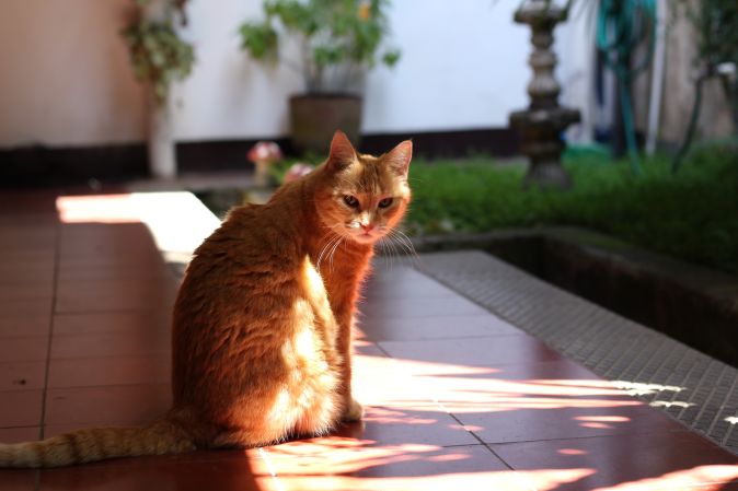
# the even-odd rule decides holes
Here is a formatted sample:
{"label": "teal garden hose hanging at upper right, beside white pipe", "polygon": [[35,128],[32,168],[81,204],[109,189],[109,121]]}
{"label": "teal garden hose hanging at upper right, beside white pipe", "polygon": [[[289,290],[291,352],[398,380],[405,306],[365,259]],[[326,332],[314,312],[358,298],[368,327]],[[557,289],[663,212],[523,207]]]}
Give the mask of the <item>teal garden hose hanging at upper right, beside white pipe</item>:
{"label": "teal garden hose hanging at upper right, beside white pipe", "polygon": [[[641,174],[641,156],[635,139],[631,83],[650,65],[656,44],[655,31],[656,0],[600,0],[597,47],[606,66],[618,78],[625,143],[634,174]],[[646,56],[633,67],[632,55],[644,39],[648,39]]]}

